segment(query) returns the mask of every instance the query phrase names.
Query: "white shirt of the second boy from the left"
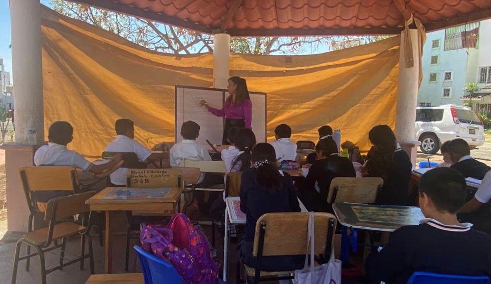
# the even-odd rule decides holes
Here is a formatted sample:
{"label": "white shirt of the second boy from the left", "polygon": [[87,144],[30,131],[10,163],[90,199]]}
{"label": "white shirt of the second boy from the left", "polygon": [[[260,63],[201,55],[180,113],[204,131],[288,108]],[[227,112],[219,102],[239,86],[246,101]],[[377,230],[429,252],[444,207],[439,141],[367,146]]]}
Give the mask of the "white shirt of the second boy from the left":
{"label": "white shirt of the second boy from the left", "polygon": [[[138,160],[145,161],[150,155],[152,155],[152,151],[147,149],[145,146],[140,144],[139,142],[129,138],[125,135],[117,135],[116,139],[111,141],[104,149],[106,152],[131,152],[135,153],[138,157]],[[115,185],[126,185],[126,173],[128,172],[128,168],[119,168],[111,173],[111,183]]]}

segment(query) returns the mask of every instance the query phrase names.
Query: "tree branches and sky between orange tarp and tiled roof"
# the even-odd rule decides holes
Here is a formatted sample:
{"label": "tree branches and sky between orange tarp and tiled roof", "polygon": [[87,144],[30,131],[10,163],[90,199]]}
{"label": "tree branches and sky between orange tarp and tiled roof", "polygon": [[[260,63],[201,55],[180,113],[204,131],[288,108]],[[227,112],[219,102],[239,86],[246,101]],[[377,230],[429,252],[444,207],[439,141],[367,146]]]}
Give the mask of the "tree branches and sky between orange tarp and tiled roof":
{"label": "tree branches and sky between orange tarp and tiled roof", "polygon": [[[52,8],[71,18],[106,29],[145,48],[172,54],[213,52],[213,36],[126,14],[65,0],[51,0]],[[230,51],[238,54],[315,53],[320,48],[338,50],[375,42],[388,36],[233,37]],[[310,52],[309,52],[310,49]]]}

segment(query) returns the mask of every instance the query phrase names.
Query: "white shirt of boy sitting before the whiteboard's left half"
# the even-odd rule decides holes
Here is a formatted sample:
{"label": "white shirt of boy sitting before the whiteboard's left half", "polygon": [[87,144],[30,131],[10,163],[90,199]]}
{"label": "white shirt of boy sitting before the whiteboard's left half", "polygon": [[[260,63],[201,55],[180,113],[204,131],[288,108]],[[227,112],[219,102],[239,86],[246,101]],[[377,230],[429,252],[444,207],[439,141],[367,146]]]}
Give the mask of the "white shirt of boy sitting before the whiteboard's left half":
{"label": "white shirt of boy sitting before the whiteboard's left half", "polygon": [[[212,157],[210,157],[210,153],[208,153],[208,149],[205,147],[205,145],[196,142],[196,140],[188,139],[184,139],[183,141],[174,144],[174,146],[170,148],[169,156],[170,166],[172,167],[180,166],[181,159],[188,159],[191,161],[212,160]],[[201,173],[197,183],[202,182],[204,177],[205,174]]]}

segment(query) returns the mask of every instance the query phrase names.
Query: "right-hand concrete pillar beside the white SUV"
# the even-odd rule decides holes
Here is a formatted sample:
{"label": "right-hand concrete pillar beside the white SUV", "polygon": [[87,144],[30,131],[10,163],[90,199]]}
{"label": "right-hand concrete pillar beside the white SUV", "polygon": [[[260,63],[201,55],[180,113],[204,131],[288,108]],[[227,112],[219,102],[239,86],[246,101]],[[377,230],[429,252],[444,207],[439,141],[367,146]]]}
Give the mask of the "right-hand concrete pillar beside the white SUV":
{"label": "right-hand concrete pillar beside the white SUV", "polygon": [[416,121],[416,106],[418,101],[419,85],[419,55],[418,55],[418,31],[409,29],[412,44],[412,56],[414,66],[405,67],[404,33],[401,32],[401,48],[399,54],[399,83],[397,86],[396,126],[395,135],[401,147],[411,157],[412,164],[416,162],[416,141],[414,123]]}

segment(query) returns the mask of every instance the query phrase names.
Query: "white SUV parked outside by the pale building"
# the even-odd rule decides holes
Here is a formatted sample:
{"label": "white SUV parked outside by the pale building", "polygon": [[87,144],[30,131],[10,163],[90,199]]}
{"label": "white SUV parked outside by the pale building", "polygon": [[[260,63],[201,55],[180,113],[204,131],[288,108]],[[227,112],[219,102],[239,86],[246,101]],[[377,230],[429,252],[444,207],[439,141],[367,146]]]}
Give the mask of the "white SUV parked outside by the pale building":
{"label": "white SUV parked outside by the pale building", "polygon": [[435,154],[443,142],[462,138],[471,148],[484,144],[481,118],[468,107],[444,105],[416,108],[416,137],[421,151]]}

